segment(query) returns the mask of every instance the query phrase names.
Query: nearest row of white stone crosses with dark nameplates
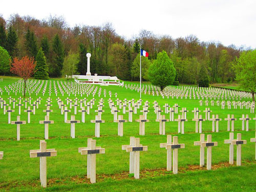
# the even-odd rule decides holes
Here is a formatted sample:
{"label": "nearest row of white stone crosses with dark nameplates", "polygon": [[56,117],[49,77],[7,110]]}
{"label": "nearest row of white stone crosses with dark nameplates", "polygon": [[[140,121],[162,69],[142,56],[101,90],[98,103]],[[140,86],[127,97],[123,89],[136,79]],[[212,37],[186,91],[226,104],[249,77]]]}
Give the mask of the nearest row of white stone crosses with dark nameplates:
{"label": "nearest row of white stone crosses with dark nameplates", "polygon": [[[256,132],[255,132],[256,137]],[[255,160],[256,160],[256,138],[251,138],[251,142],[255,142]],[[241,139],[241,133],[237,134],[237,139],[234,139],[233,133],[230,133],[229,139],[224,140],[224,143],[229,144],[229,163],[233,164],[233,145],[237,145],[237,166],[241,166],[241,145],[246,144],[246,140]],[[207,147],[206,168],[211,169],[211,147],[217,146],[218,142],[212,142],[211,135],[207,135],[205,141],[204,134],[200,135],[200,141],[195,141],[194,145],[200,146],[200,167],[204,166],[204,148]],[[166,169],[172,170],[173,173],[178,173],[178,149],[185,148],[185,144],[178,143],[178,137],[167,136],[166,143],[160,143],[160,148],[165,148],[167,151]],[[140,152],[147,151],[147,146],[140,144],[140,138],[130,137],[130,145],[122,145],[122,150],[130,153],[130,174],[134,173],[135,179],[139,179],[140,167]],[[90,178],[91,183],[96,182],[96,154],[104,154],[105,149],[96,146],[96,140],[88,139],[87,147],[79,147],[78,153],[87,155],[87,177]],[[173,160],[172,160],[173,154]],[[0,152],[0,159],[3,159],[4,152]],[[47,157],[57,156],[57,151],[47,149],[45,140],[40,140],[39,150],[30,150],[30,157],[40,157],[40,181],[42,187],[47,187]],[[172,166],[173,162],[173,166]]]}

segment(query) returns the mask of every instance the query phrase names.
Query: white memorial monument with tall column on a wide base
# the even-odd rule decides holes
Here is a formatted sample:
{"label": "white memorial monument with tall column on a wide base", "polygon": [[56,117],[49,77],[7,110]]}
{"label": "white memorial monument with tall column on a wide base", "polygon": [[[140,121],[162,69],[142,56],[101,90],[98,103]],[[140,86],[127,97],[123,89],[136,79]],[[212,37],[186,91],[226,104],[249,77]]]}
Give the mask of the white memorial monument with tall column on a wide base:
{"label": "white memorial monument with tall column on a wide base", "polygon": [[77,83],[89,83],[89,84],[100,84],[101,86],[121,86],[120,80],[114,76],[98,76],[98,74],[91,75],[90,72],[90,57],[91,53],[87,53],[87,73],[86,75],[72,75],[72,78],[75,79]]}

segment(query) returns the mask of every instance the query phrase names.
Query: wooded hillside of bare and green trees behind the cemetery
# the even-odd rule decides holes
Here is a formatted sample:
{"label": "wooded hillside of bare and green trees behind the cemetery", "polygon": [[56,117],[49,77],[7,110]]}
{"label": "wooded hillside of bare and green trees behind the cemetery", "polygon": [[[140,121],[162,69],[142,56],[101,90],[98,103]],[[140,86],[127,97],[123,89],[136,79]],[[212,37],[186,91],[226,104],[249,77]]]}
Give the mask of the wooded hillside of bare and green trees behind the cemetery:
{"label": "wooded hillside of bare and green trees behind the cemetery", "polygon": [[[172,38],[147,30],[132,39],[117,34],[111,23],[102,26],[69,27],[62,16],[47,19],[31,16],[0,16],[0,46],[10,57],[34,57],[39,49],[44,52],[50,77],[81,74],[87,71],[86,53],[91,56],[91,73],[117,76],[122,80],[139,79],[140,48],[147,51],[142,57],[142,77],[148,80],[148,69],[165,51],[176,69],[175,81],[197,84],[200,69],[205,68],[211,82],[234,80],[232,63],[245,48],[228,47],[221,42],[200,41],[195,35]],[[41,53],[40,53],[41,54]],[[42,56],[41,56],[42,57]],[[0,73],[6,74],[0,66]]]}

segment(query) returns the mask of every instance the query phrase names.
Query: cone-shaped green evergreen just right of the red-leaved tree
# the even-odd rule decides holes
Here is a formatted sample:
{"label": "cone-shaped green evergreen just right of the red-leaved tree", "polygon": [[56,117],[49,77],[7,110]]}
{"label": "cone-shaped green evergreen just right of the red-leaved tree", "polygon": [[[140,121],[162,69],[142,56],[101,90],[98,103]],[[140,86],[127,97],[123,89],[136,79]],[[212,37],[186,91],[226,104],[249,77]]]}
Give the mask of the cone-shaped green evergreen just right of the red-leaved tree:
{"label": "cone-shaped green evergreen just right of the red-leaved tree", "polygon": [[49,79],[48,66],[46,65],[46,57],[40,47],[36,55],[35,79]]}

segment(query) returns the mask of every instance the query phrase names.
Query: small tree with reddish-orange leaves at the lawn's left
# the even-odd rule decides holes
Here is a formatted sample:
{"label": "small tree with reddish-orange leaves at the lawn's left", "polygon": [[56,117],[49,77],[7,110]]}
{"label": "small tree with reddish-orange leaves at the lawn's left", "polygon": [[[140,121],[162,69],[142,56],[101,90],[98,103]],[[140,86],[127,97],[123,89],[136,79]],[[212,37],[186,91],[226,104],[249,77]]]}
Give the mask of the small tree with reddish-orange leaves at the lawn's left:
{"label": "small tree with reddish-orange leaves at the lawn's left", "polygon": [[36,61],[34,58],[29,58],[27,56],[22,59],[14,58],[11,64],[10,71],[23,78],[24,80],[24,92],[23,95],[26,97],[26,82],[29,77],[35,73]]}

